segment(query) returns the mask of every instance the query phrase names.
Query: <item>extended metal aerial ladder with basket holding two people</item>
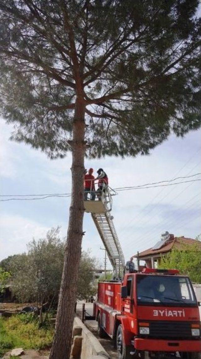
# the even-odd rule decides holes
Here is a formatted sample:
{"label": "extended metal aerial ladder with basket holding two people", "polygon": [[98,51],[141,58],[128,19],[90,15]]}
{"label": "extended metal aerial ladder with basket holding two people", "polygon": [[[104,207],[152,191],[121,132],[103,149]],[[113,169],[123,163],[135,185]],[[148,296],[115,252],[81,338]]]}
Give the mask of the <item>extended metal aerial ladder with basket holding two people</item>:
{"label": "extended metal aerial ladder with basket holding two people", "polygon": [[103,188],[99,200],[96,198],[94,201],[84,201],[84,208],[85,212],[92,215],[116,278],[120,277],[125,268],[125,259],[114,228],[113,216],[110,214],[112,210],[112,196],[108,186]]}

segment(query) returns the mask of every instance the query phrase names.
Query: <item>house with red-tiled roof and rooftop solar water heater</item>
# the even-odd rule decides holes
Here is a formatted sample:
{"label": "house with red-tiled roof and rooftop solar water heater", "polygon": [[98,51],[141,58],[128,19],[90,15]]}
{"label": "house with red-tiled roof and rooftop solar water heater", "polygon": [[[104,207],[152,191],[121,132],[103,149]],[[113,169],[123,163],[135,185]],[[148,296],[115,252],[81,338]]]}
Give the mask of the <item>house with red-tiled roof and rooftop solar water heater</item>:
{"label": "house with red-tiled roof and rooftop solar water heater", "polygon": [[141,267],[141,261],[145,261],[146,267],[155,268],[160,261],[162,255],[166,255],[171,252],[173,248],[181,248],[184,244],[198,243],[201,247],[201,242],[196,239],[182,237],[174,237],[174,234],[165,232],[160,241],[158,241],[154,247],[149,248],[143,252],[134,255],[137,258],[138,267]]}

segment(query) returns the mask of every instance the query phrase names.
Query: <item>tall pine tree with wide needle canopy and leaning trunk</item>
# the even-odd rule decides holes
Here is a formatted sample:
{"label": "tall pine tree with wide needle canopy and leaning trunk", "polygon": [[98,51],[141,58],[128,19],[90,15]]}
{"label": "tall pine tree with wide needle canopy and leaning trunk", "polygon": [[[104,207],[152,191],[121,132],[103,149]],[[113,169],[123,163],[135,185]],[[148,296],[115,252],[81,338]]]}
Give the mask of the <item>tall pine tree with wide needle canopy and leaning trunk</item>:
{"label": "tall pine tree with wide needle canopy and leaning trunk", "polygon": [[[136,156],[200,126],[197,0],[1,0],[0,107],[13,140],[72,152],[50,358],[69,358],[83,237],[84,157]],[[67,270],[72,268],[71,276]]]}

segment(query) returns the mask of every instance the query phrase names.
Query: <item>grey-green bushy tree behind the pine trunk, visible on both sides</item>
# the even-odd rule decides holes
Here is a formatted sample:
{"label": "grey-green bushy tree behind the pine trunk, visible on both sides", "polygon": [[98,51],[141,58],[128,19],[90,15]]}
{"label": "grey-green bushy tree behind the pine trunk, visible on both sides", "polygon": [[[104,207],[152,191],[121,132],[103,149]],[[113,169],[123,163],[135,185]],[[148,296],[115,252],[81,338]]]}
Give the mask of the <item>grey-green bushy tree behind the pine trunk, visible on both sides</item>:
{"label": "grey-green bushy tree behind the pine trunk, visible on both sides", "polygon": [[[13,293],[20,302],[45,303],[54,297],[58,300],[64,265],[65,242],[60,239],[59,227],[52,228],[45,238],[33,239],[28,244],[28,253],[9,256],[1,261],[0,285],[11,275]],[[95,294],[94,271],[98,266],[90,252],[83,251],[79,265],[77,298],[85,299]],[[7,271],[5,271],[5,269]],[[74,268],[69,268],[69,276]]]}

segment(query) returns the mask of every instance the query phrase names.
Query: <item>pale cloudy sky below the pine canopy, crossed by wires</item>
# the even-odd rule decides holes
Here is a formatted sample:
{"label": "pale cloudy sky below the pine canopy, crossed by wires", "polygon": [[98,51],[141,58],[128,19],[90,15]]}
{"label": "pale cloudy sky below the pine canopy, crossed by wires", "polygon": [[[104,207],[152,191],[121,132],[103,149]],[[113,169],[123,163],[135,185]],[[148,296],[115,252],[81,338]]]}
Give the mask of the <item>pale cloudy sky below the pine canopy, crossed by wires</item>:
{"label": "pale cloudy sky below the pine canopy, crossed by wires", "polygon": [[[9,141],[10,132],[1,119],[1,195],[69,193],[71,155],[50,160],[39,150]],[[190,176],[201,172],[200,140],[201,131],[183,139],[171,136],[147,157],[86,160],[85,167],[104,168],[112,188]],[[45,236],[53,226],[61,226],[61,236],[65,236],[69,205],[70,198],[58,197],[1,202],[0,260],[26,251],[33,237]],[[113,197],[114,225],[126,259],[152,247],[165,230],[195,238],[201,233],[200,214],[201,182],[119,192]],[[84,230],[83,250],[89,248],[103,262],[102,242],[90,214],[84,216]]]}

